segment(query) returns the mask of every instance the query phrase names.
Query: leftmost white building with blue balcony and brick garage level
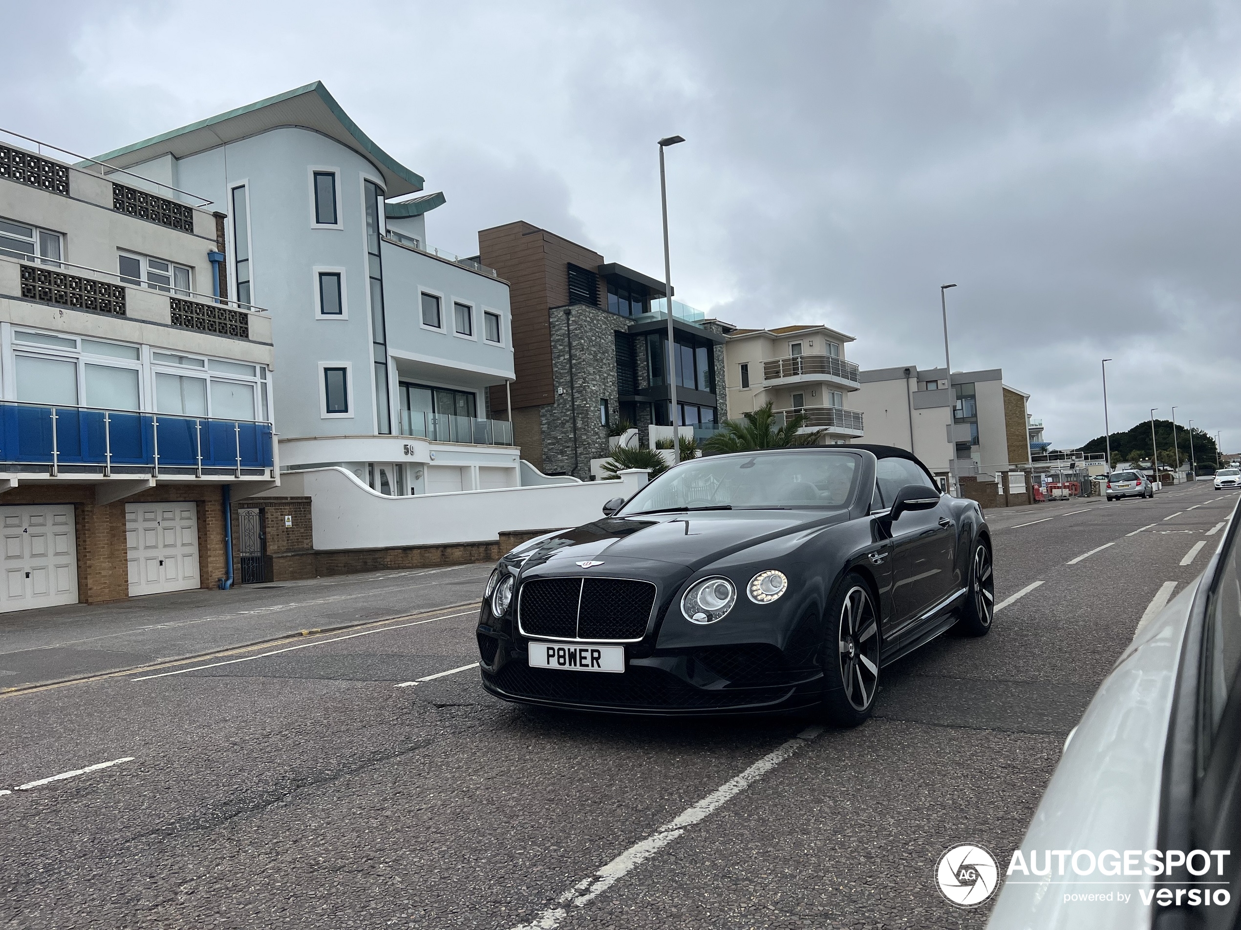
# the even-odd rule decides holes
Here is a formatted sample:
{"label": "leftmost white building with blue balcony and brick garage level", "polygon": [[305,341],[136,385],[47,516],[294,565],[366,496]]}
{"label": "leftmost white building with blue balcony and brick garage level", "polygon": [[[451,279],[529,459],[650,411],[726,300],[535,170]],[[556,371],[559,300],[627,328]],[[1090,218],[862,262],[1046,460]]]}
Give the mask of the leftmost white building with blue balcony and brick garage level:
{"label": "leftmost white building with blue balcony and brick garage level", "polygon": [[278,477],[207,201],[72,161],[0,140],[0,611],[227,583],[230,494]]}

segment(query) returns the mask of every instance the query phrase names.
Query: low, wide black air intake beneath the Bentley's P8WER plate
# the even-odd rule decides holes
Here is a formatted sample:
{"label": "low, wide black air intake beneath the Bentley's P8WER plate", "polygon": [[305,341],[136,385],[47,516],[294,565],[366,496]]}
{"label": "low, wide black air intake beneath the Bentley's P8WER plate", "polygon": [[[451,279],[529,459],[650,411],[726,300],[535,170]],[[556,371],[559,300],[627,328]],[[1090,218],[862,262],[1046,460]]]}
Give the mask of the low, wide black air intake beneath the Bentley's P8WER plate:
{"label": "low, wide black air intake beneath the Bentley's P8WER plate", "polygon": [[505,663],[489,682],[514,697],[617,708],[727,709],[772,704],[792,689],[707,691],[661,668],[629,666],[624,675],[531,668],[520,657]]}

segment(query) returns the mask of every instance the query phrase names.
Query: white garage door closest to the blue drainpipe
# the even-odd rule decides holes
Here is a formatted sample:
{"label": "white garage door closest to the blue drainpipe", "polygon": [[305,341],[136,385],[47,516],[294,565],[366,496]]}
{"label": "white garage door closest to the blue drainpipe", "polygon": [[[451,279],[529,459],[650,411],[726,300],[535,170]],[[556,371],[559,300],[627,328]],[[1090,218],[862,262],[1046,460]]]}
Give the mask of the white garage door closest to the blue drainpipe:
{"label": "white garage door closest to the blue drainpipe", "polygon": [[199,511],[186,503],[127,503],[129,596],[199,587]]}

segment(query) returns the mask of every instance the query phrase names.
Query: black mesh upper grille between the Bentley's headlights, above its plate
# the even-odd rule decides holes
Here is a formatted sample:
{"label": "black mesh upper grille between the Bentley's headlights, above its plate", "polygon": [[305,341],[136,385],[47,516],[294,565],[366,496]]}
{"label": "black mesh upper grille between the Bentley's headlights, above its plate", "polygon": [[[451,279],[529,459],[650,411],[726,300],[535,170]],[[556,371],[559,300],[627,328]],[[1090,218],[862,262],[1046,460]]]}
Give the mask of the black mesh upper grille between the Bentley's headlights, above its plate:
{"label": "black mesh upper grille between the Bentley's headlights, above its plate", "polygon": [[517,625],[526,636],[640,640],[655,585],[628,578],[532,578],[521,585]]}

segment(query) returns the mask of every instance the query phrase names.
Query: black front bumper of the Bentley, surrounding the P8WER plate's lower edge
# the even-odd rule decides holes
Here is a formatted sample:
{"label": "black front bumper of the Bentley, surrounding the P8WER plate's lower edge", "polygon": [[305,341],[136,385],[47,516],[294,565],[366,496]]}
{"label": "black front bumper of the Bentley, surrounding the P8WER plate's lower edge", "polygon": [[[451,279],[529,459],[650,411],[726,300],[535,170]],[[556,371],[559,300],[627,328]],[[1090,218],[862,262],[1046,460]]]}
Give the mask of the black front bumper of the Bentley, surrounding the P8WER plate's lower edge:
{"label": "black front bumper of the Bentley, surrounding the P8WER plate's lower edge", "polygon": [[[623,673],[531,668],[527,640],[480,627],[483,687],[498,698],[624,714],[773,713],[819,702],[823,672],[789,668],[764,644],[701,650],[632,650]],[[635,657],[634,651],[644,655]]]}

